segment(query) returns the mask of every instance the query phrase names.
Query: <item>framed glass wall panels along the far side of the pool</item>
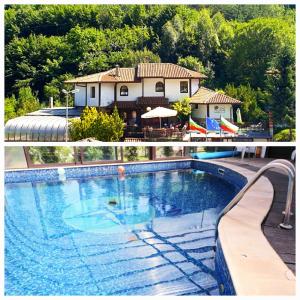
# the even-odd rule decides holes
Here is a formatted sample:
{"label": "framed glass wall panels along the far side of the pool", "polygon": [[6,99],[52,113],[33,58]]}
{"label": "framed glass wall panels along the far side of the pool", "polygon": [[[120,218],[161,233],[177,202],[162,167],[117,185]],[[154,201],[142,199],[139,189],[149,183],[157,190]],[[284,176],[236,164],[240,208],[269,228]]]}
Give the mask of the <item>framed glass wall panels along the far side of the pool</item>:
{"label": "framed glass wall panels along the far side of the pool", "polygon": [[6,147],[6,169],[60,165],[108,164],[131,161],[155,161],[190,157],[204,147],[183,146],[102,146],[102,147]]}

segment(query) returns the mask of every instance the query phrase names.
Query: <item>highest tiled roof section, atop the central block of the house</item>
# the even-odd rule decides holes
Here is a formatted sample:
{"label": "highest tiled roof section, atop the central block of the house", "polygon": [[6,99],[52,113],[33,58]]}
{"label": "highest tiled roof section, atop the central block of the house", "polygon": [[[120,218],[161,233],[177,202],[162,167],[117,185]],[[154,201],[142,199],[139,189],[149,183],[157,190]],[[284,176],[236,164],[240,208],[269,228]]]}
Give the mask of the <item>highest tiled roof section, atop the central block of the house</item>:
{"label": "highest tiled roof section, atop the central block of the house", "polygon": [[206,78],[204,74],[171,63],[141,63],[137,77]]}

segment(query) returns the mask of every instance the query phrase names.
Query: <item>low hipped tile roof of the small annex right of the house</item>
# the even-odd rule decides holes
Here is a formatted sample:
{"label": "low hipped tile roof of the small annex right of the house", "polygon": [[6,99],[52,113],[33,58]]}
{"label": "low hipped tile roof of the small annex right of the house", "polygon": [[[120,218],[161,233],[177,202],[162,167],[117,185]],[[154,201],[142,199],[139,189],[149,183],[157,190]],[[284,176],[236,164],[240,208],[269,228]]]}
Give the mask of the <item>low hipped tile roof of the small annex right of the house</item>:
{"label": "low hipped tile roof of the small annex right of the house", "polygon": [[200,87],[191,97],[194,104],[241,104],[242,102],[227,95],[215,92],[205,87]]}

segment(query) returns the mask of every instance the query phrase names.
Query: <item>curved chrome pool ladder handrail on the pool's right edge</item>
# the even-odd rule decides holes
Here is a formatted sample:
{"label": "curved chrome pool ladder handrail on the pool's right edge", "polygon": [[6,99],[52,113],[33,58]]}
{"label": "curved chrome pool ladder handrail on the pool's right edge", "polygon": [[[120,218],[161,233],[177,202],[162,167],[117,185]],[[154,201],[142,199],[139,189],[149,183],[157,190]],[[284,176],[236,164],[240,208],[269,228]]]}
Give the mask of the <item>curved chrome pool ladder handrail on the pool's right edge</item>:
{"label": "curved chrome pool ladder handrail on the pool's right edge", "polygon": [[238,194],[227,204],[227,206],[221,211],[218,216],[217,223],[216,223],[216,237],[218,235],[218,225],[220,223],[221,218],[227,214],[239,201],[243,198],[245,193],[256,183],[256,181],[269,169],[281,169],[286,172],[289,178],[288,182],[288,191],[286,196],[286,204],[285,210],[283,212],[284,219],[283,222],[279,224],[281,228],[284,229],[292,229],[293,226],[290,224],[290,217],[292,215],[291,206],[293,200],[293,191],[295,186],[295,176],[296,170],[294,165],[285,159],[276,159],[262,167],[249,181],[248,183],[238,192]]}

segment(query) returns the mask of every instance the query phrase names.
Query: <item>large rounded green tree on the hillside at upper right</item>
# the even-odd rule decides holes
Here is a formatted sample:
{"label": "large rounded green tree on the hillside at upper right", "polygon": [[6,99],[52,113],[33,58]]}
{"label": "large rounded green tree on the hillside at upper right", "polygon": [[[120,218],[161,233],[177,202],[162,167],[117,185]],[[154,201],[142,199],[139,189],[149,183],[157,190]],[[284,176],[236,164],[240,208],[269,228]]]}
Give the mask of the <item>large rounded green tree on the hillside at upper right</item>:
{"label": "large rounded green tree on the hillside at upper right", "polygon": [[260,18],[236,26],[226,74],[236,85],[265,88],[265,74],[286,45],[295,45],[295,26],[279,18]]}

